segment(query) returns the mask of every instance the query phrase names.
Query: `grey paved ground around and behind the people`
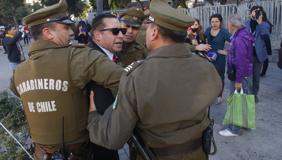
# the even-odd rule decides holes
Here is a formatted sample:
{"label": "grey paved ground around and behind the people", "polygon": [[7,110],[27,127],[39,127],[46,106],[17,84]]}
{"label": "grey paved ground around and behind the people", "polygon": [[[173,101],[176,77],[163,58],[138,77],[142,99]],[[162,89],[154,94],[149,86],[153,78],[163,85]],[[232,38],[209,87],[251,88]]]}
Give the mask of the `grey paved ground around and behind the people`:
{"label": "grey paved ground around and behind the people", "polygon": [[[33,41],[33,39],[31,40]],[[77,43],[75,40],[73,42]],[[20,43],[24,44],[23,40]],[[226,48],[228,48],[227,45]],[[28,49],[29,45],[23,45],[25,56],[27,56]],[[256,104],[256,130],[251,132],[241,130],[241,135],[235,137],[222,137],[218,135],[218,131],[227,127],[227,125],[222,125],[227,109],[226,99],[229,97],[229,80],[225,79],[222,104],[213,104],[211,106],[211,117],[215,120],[214,139],[217,144],[217,154],[210,156],[211,160],[281,159],[282,70],[277,67],[276,63],[278,61],[279,47],[273,47],[272,49],[273,55],[269,56],[269,67],[266,77],[260,79],[259,103]],[[12,76],[7,54],[3,53],[3,50],[0,51],[0,91],[8,88],[10,84],[9,79]],[[120,160],[129,160],[127,144],[118,153]]]}

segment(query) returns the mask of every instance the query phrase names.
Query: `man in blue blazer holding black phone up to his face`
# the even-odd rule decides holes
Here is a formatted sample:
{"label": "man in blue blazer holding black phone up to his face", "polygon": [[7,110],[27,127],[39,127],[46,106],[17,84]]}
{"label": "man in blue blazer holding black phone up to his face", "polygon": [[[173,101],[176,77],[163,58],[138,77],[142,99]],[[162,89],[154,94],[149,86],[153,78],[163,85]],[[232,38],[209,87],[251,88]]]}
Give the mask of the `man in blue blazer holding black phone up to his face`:
{"label": "man in blue blazer holding black phone up to his face", "polygon": [[255,103],[259,102],[259,79],[260,71],[263,66],[263,62],[268,58],[265,39],[270,36],[269,24],[264,22],[262,12],[264,8],[261,6],[253,6],[250,10],[251,20],[244,22],[246,28],[255,35],[255,43],[253,44],[253,83],[250,88],[251,94],[254,94]]}

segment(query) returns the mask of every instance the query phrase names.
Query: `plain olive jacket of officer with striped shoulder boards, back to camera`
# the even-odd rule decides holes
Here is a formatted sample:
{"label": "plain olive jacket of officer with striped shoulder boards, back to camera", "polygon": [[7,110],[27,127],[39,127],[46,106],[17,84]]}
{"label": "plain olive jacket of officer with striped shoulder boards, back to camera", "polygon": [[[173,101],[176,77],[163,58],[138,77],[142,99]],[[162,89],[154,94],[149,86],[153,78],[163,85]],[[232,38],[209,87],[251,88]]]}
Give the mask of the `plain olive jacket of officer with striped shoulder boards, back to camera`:
{"label": "plain olive jacket of officer with striped shoulder boards, back to camera", "polygon": [[206,108],[221,89],[212,63],[192,55],[188,44],[157,48],[124,69],[116,101],[103,116],[89,113],[90,140],[120,149],[136,126],[150,147],[184,143],[209,125]]}

